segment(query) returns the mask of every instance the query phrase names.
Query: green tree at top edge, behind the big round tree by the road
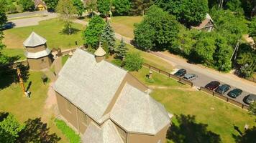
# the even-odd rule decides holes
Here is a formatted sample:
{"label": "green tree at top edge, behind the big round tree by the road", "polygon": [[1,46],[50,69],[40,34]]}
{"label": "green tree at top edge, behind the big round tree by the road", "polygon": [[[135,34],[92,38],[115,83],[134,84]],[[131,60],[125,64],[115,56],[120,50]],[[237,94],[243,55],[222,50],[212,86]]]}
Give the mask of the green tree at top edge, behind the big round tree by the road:
{"label": "green tree at top edge, behind the big round tree by the road", "polygon": [[156,4],[186,26],[197,26],[209,11],[207,0],[157,0]]}

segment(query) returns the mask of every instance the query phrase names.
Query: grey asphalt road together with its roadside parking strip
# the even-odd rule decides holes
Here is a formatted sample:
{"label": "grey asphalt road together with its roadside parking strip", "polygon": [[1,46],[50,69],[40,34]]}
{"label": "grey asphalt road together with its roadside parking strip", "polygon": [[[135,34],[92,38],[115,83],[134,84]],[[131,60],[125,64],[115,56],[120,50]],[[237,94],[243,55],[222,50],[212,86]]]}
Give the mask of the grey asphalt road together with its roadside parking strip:
{"label": "grey asphalt road together with its roadside parking strip", "polygon": [[[234,99],[240,103],[244,103],[243,99],[248,94],[256,94],[255,83],[244,81],[244,79],[237,79],[238,77],[231,76],[230,74],[222,74],[218,71],[213,71],[206,68],[204,69],[201,66],[189,64],[186,61],[179,60],[175,57],[166,56],[165,54],[161,54],[160,52],[154,52],[153,54],[172,62],[175,66],[175,69],[186,69],[187,73],[198,75],[198,78],[192,81],[194,86],[198,88],[205,87],[206,84],[212,81],[218,81],[221,84],[229,84],[231,86],[231,89],[229,91],[234,88],[242,89],[242,94]],[[225,97],[228,97],[227,93],[224,94]]]}

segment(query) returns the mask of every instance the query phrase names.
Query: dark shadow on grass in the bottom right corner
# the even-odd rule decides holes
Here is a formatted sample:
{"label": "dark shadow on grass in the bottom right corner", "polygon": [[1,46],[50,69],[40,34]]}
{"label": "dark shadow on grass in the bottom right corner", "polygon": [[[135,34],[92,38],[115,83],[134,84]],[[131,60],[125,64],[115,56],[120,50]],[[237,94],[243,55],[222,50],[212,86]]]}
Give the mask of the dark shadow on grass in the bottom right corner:
{"label": "dark shadow on grass in the bottom right corner", "polygon": [[237,143],[255,143],[256,142],[256,127],[247,129],[242,135],[232,134],[235,142]]}

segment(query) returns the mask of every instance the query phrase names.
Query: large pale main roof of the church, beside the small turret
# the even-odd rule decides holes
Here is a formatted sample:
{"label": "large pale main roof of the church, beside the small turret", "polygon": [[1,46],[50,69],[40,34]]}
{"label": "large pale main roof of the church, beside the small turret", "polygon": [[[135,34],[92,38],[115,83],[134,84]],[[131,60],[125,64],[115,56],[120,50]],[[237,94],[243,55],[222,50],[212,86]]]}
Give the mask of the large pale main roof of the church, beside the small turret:
{"label": "large pale main roof of the church, beside the small turret", "polygon": [[127,71],[76,49],[66,61],[53,88],[96,122],[109,106]]}

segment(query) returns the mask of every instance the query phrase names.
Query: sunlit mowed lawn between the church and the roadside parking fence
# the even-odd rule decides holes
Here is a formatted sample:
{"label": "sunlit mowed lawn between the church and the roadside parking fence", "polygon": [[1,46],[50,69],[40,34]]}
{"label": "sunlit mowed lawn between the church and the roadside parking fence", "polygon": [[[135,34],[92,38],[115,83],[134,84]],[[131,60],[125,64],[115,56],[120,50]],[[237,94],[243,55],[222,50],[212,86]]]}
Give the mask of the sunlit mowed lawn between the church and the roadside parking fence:
{"label": "sunlit mowed lawn between the church and the roadside parking fence", "polygon": [[[134,77],[153,88],[150,96],[162,103],[168,112],[176,115],[194,115],[196,123],[208,124],[207,129],[219,134],[221,142],[234,142],[232,134],[238,135],[234,126],[239,127],[242,132],[244,132],[244,124],[249,124],[250,127],[256,126],[255,117],[251,117],[243,109],[155,72],[152,74],[155,82],[148,83],[145,80],[148,73],[149,69],[146,68],[132,72]],[[175,118],[173,121],[178,124]]]}

